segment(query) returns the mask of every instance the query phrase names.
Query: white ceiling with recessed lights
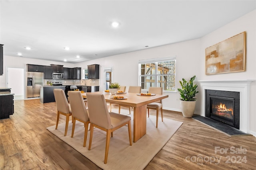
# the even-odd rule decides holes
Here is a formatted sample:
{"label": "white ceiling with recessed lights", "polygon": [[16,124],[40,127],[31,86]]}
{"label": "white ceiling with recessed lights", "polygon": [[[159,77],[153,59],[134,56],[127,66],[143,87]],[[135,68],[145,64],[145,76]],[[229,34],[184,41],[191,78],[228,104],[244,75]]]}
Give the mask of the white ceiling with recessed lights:
{"label": "white ceiling with recessed lights", "polygon": [[0,43],[4,55],[79,63],[198,39],[255,9],[255,0],[1,0]]}

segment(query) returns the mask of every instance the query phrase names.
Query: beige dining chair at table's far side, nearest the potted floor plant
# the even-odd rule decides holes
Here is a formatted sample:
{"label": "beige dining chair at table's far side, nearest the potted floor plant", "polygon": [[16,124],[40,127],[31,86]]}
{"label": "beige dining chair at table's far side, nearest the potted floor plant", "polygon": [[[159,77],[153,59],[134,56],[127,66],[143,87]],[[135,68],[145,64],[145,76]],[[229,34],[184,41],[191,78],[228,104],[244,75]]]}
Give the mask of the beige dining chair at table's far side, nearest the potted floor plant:
{"label": "beige dining chair at table's far side, nearest the potted floor plant", "polygon": [[[148,88],[148,93],[163,94],[163,89],[162,89],[162,87],[150,87],[150,88]],[[163,121],[162,100],[158,100],[156,102],[147,104],[147,109],[148,109],[148,117],[149,117],[149,109],[156,110],[156,128],[157,128],[158,127],[158,111],[159,111],[159,109],[161,109],[161,117],[162,117],[162,121]]]}

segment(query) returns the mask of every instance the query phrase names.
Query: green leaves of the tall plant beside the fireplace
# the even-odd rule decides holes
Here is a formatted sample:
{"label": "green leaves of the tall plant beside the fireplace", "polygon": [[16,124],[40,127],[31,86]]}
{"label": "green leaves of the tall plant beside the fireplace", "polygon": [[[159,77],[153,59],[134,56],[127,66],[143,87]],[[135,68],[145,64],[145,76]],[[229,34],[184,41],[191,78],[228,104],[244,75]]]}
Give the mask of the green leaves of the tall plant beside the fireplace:
{"label": "green leaves of the tall plant beside the fireplace", "polygon": [[180,85],[182,88],[178,88],[181,97],[180,100],[196,101],[194,97],[198,93],[198,91],[196,91],[198,85],[193,85],[193,81],[195,80],[195,78],[196,76],[191,77],[189,82],[182,78],[182,81],[180,81]]}

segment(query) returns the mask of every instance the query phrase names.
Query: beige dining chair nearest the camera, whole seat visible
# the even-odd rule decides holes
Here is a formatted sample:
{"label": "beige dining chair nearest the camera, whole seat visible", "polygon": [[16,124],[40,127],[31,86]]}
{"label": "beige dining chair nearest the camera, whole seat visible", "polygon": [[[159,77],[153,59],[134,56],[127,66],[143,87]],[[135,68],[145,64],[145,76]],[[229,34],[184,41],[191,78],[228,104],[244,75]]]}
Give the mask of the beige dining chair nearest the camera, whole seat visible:
{"label": "beige dining chair nearest the camera, whole seat visible", "polygon": [[86,94],[90,115],[90,141],[88,150],[92,147],[92,135],[94,127],[106,131],[106,148],[104,164],[108,160],[108,150],[110,145],[110,134],[122,126],[128,125],[130,146],[132,146],[131,117],[108,112],[108,107],[103,94]]}

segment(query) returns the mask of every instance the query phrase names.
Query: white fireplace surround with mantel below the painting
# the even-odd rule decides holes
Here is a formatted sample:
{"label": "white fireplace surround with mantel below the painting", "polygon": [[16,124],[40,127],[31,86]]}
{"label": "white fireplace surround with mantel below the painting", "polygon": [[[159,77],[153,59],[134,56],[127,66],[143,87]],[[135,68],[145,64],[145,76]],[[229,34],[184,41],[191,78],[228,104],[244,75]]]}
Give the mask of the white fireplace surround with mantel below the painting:
{"label": "white fireplace surround with mantel below the painting", "polygon": [[250,130],[250,83],[255,80],[201,80],[201,116],[205,117],[205,91],[223,90],[240,92],[240,131]]}

